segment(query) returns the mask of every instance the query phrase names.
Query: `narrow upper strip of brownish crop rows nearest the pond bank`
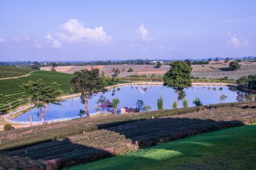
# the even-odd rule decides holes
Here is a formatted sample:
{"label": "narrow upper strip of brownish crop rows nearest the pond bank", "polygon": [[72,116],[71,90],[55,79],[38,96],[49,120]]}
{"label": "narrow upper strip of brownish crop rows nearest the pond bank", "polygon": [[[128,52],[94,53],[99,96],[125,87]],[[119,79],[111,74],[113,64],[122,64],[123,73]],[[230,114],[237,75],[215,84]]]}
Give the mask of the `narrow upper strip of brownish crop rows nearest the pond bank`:
{"label": "narrow upper strip of brownish crop rows nearest the pond bank", "polygon": [[110,115],[90,119],[82,118],[76,120],[69,120],[65,123],[56,122],[52,124],[34,126],[32,128],[21,128],[6,132],[0,132],[0,138],[3,142],[1,144],[0,151],[21,148],[24,146],[33,145],[40,142],[46,142],[52,140],[53,137],[61,139],[75,134],[82,134],[83,132],[90,132],[102,128],[118,126],[120,124],[127,124],[138,120],[148,120],[152,118],[152,116],[154,116],[154,118],[161,118],[163,116],[197,112],[198,110],[204,110],[205,108],[207,109],[209,107],[219,108],[231,106],[234,104],[236,103],[223,103],[209,106],[205,105],[202,108],[193,107],[180,108],[177,110],[163,110],[134,114]]}

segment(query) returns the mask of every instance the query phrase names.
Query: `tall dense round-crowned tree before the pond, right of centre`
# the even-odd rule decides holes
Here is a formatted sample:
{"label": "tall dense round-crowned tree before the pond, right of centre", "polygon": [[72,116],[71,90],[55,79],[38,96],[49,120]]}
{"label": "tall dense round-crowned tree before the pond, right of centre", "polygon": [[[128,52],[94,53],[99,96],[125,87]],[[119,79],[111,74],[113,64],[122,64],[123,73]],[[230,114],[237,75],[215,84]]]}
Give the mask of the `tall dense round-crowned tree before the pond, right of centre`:
{"label": "tall dense round-crowned tree before the pond, right of centre", "polygon": [[185,97],[185,88],[192,85],[191,67],[183,61],[175,61],[170,63],[170,70],[164,74],[164,85],[175,90],[178,95],[177,105],[179,108],[179,100]]}

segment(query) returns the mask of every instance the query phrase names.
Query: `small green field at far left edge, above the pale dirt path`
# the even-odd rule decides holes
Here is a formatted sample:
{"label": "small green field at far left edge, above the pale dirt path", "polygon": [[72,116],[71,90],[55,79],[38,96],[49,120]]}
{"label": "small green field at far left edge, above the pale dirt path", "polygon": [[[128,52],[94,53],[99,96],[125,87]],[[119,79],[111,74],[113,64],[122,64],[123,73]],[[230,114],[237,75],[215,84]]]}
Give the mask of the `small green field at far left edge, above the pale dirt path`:
{"label": "small green field at far left edge, above the pale dirt path", "polygon": [[28,73],[35,71],[29,67],[7,67],[0,66],[0,79],[6,77],[18,77],[22,75],[27,75]]}

